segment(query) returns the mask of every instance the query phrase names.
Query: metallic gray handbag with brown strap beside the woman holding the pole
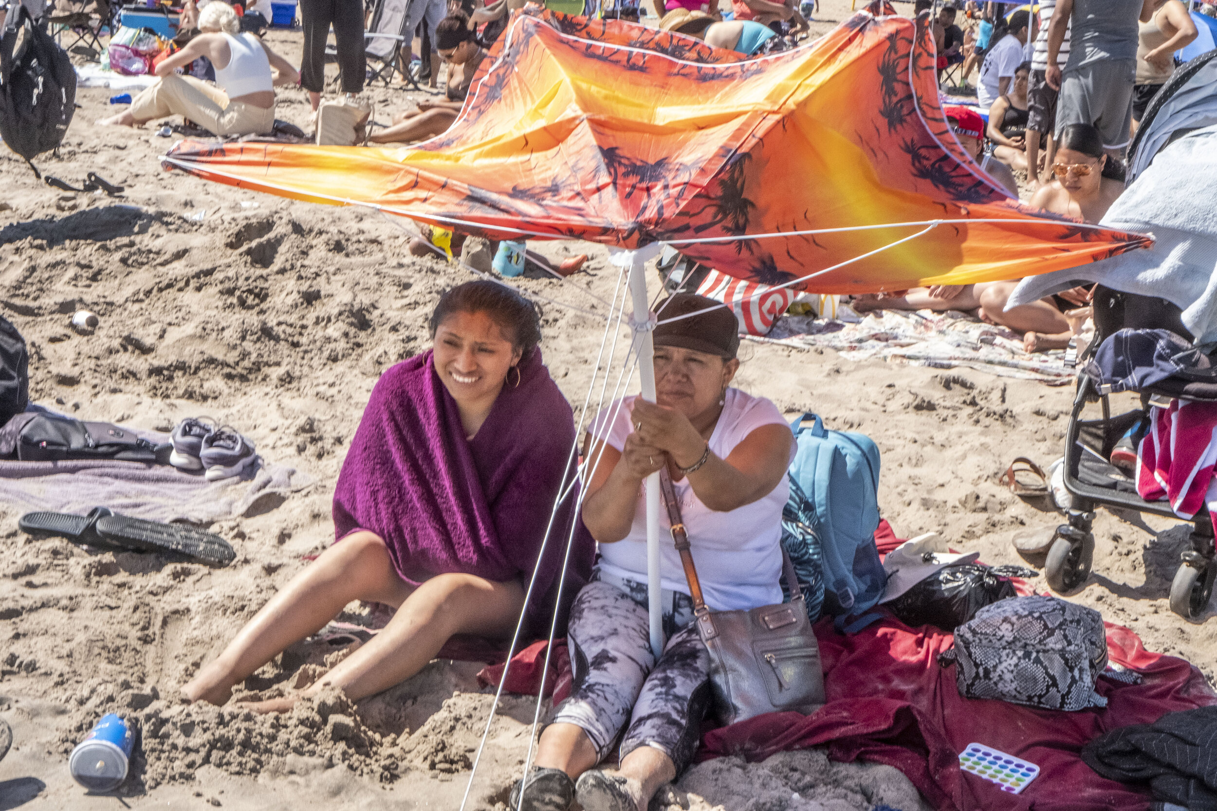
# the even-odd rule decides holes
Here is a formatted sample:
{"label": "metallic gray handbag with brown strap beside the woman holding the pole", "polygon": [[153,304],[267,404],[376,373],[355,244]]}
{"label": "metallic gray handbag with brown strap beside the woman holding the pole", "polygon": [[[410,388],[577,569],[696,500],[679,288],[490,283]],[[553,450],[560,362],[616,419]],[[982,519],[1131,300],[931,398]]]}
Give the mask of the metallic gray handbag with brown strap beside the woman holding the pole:
{"label": "metallic gray handbag with brown strap beside the woman holding the pole", "polygon": [[791,595],[789,603],[751,610],[710,610],[701,596],[689,534],[666,471],[660,481],[672,522],[672,540],[689,580],[697,633],[710,652],[710,685],[718,721],[725,726],[765,713],[795,710],[809,715],[818,710],[824,705],[820,647],[807,619],[795,565],[785,551],[781,562]]}

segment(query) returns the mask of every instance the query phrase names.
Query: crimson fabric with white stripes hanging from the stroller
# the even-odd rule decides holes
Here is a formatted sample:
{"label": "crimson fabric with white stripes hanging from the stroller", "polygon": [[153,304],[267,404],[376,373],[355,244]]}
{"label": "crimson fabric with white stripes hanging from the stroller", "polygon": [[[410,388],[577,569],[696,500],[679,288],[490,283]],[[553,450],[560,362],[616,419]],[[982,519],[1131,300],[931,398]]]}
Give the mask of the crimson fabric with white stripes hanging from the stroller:
{"label": "crimson fabric with white stripes hanging from the stroller", "polygon": [[1170,409],[1150,411],[1150,430],[1137,449],[1137,492],[1145,501],[1168,500],[1176,516],[1190,520],[1217,497],[1217,402],[1171,400]]}

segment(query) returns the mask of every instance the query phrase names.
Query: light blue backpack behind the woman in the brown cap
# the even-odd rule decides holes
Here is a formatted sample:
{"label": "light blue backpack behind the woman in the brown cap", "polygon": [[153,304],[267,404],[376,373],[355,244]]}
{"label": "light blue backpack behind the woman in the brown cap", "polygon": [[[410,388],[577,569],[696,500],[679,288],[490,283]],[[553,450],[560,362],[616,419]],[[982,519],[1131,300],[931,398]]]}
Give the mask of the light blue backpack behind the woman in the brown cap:
{"label": "light blue backpack behind the woman in the brown cap", "polygon": [[837,618],[839,630],[854,633],[879,619],[865,612],[887,584],[875,548],[879,447],[863,434],[826,430],[811,412],[790,429],[797,454],[787,472],[781,545],[808,591],[808,615],[821,608]]}

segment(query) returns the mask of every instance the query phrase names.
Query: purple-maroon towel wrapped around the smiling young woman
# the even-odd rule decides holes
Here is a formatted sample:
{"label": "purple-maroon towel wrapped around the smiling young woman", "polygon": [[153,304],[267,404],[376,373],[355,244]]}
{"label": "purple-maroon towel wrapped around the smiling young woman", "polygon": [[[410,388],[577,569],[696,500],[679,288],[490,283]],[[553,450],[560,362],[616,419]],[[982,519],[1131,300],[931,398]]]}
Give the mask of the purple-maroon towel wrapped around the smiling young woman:
{"label": "purple-maroon towel wrapped around the smiling young woman", "polygon": [[[470,440],[431,351],[388,368],[342,463],[333,494],[336,537],[376,533],[410,585],[460,571],[527,587],[554,500],[574,477],[573,461],[567,466],[574,422],[539,349],[518,368],[518,385],[503,387]],[[595,541],[578,522],[556,604],[577,496],[574,488],[550,530],[528,603],[532,632],[548,633],[560,608],[562,636],[566,609],[591,573]]]}

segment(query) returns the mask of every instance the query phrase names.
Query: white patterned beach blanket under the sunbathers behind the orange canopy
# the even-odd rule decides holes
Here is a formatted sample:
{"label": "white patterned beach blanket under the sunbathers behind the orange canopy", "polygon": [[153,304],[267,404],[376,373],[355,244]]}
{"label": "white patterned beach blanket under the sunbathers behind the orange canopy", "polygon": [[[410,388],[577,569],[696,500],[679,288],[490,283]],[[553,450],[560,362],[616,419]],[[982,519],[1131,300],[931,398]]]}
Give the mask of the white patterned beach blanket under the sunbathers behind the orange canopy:
{"label": "white patterned beach blanket under the sunbathers behind the orange canopy", "polygon": [[1022,350],[1022,339],[1005,327],[985,323],[961,312],[880,310],[858,323],[811,316],[785,316],[764,338],[784,347],[835,349],[846,360],[881,357],[935,368],[976,368],[1000,377],[1064,385],[1075,370],[1065,365],[1065,351]]}

